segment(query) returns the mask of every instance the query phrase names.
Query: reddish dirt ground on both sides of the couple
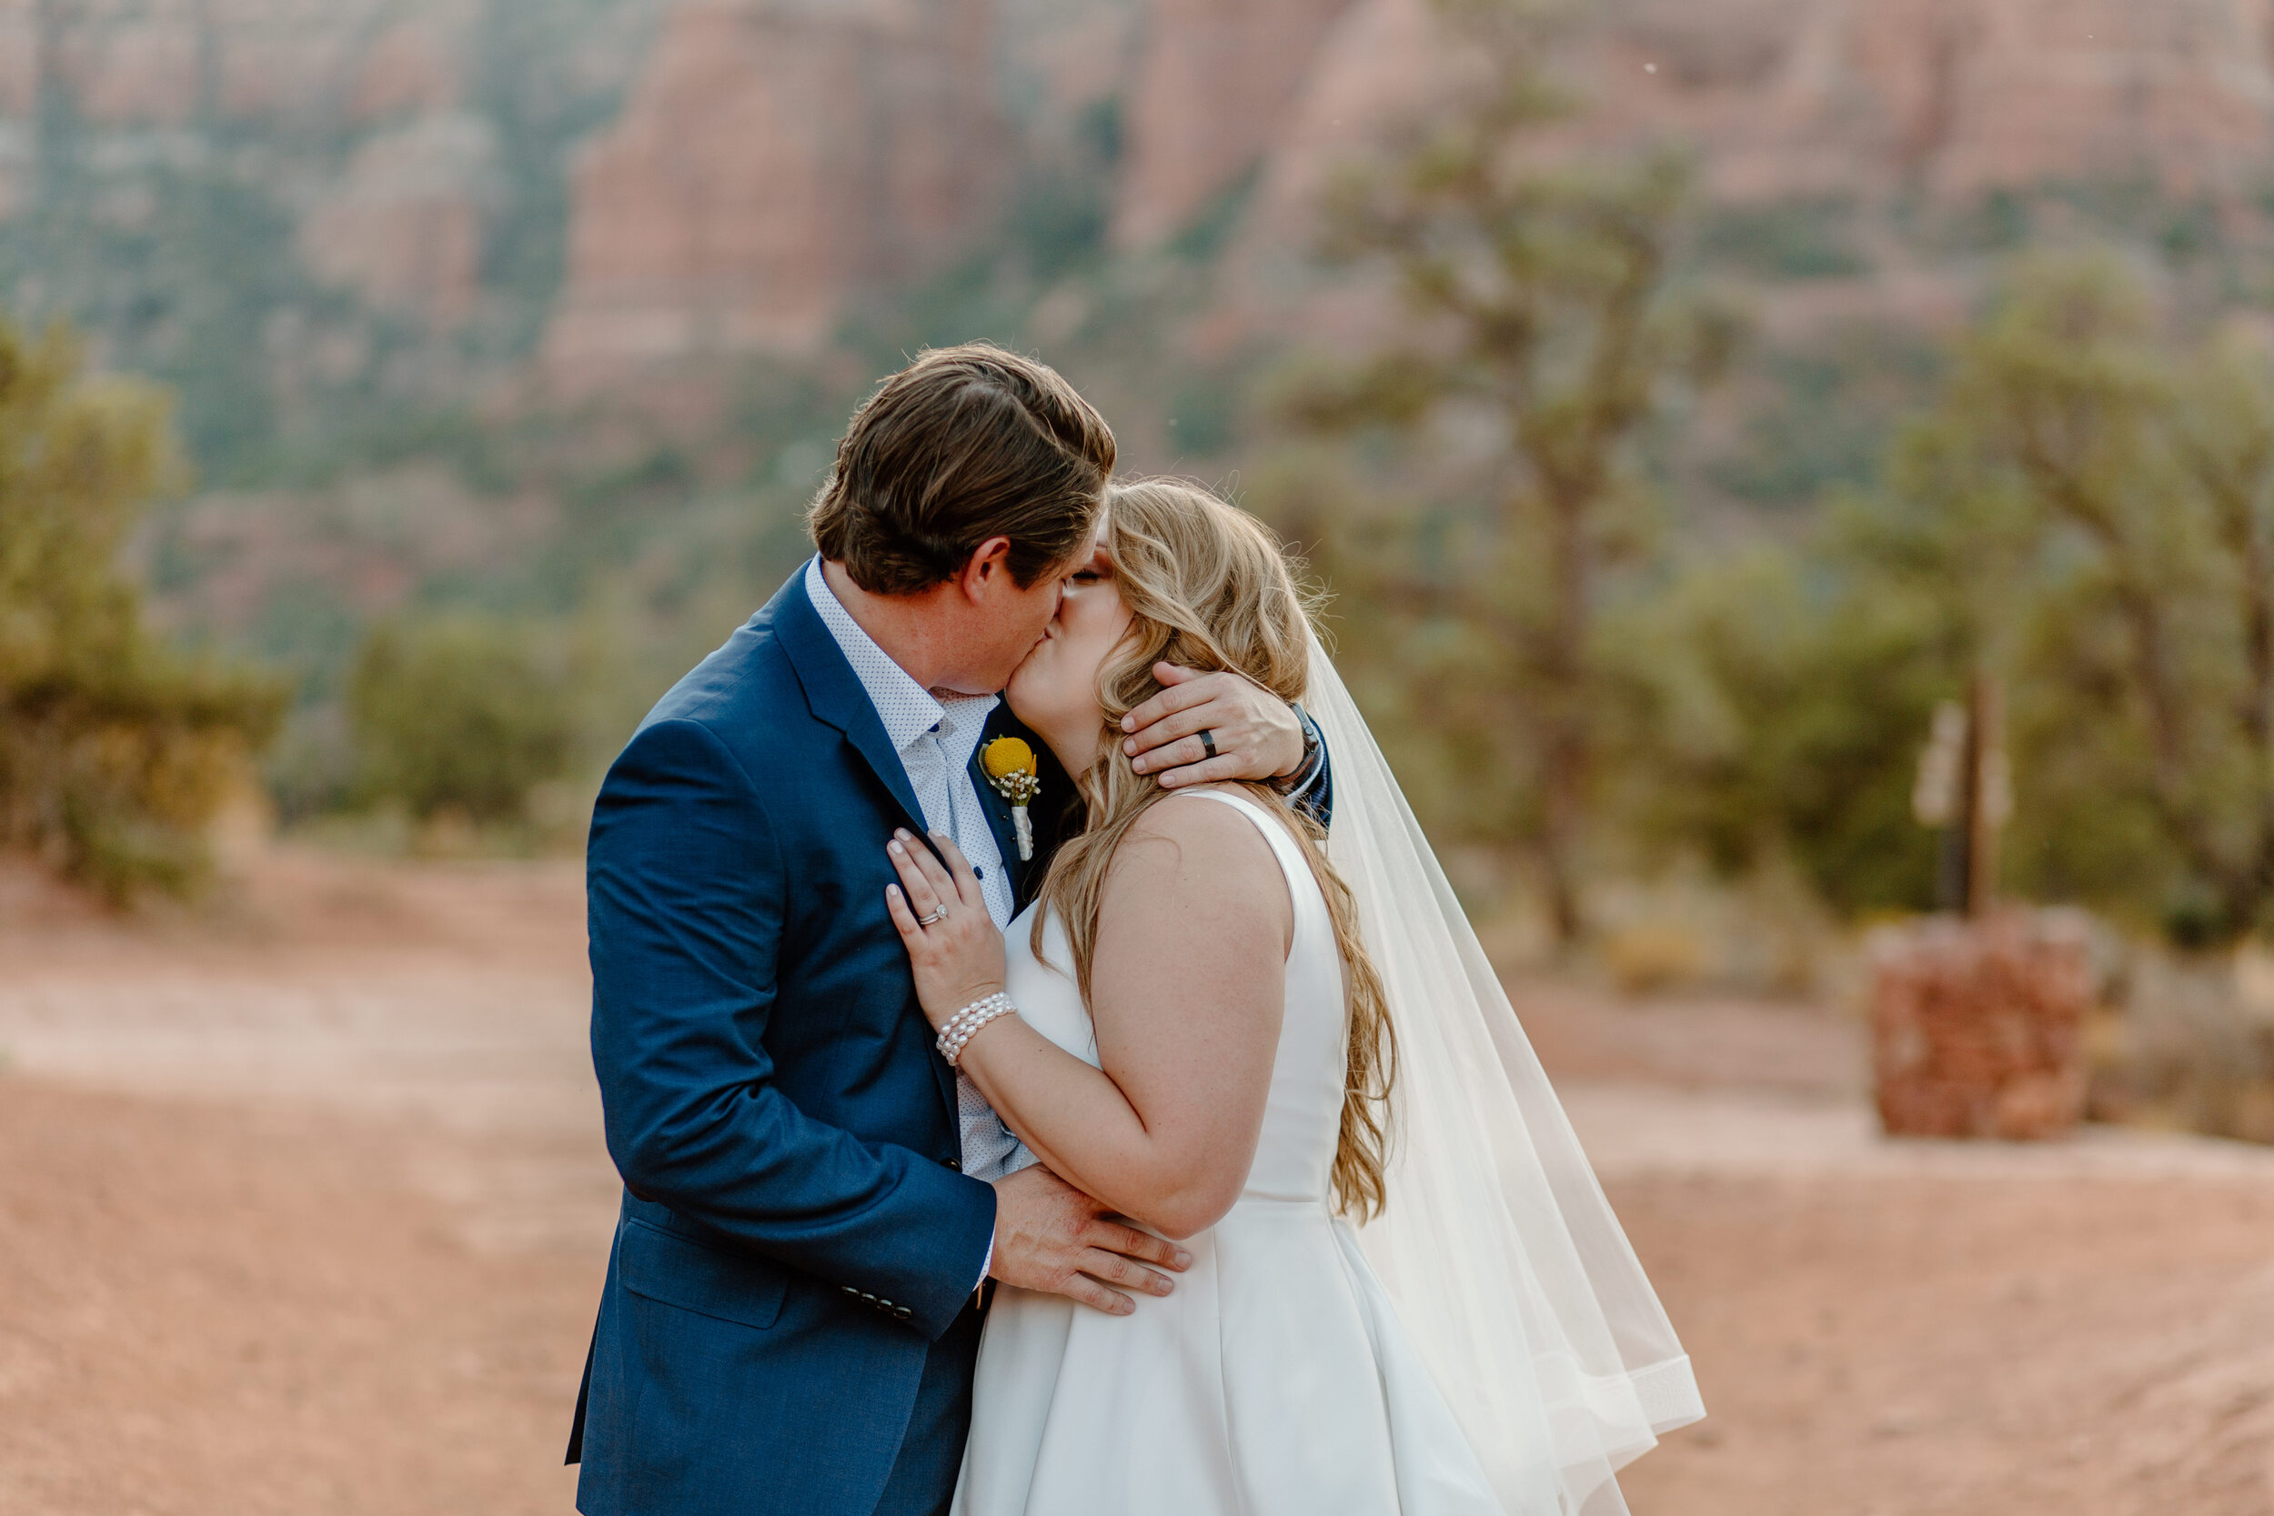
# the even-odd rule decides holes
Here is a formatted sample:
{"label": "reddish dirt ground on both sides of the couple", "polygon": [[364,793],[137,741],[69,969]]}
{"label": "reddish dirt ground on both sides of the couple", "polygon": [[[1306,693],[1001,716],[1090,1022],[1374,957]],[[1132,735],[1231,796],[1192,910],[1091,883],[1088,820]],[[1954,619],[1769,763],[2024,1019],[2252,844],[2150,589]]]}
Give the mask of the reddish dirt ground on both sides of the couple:
{"label": "reddish dirt ground on both sides of the couple", "polygon": [[[2274,1152],[1885,1143],[1833,1018],[1519,1002],[1715,1411],[1637,1516],[2274,1511]],[[582,1036],[573,868],[0,875],[0,1511],[566,1511]]]}

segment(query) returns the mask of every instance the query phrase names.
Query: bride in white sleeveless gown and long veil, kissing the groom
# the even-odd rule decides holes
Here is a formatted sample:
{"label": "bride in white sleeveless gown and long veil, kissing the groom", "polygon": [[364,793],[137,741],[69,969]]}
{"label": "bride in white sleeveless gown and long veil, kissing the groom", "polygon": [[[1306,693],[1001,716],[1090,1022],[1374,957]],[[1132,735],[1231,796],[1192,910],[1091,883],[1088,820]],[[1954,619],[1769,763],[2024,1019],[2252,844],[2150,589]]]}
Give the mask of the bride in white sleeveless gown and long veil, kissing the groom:
{"label": "bride in white sleeveless gown and long veil, kissing the groom", "polygon": [[[1157,661],[1312,705],[1333,861],[1271,791],[1130,768]],[[1687,1359],[1262,525],[1119,486],[1010,700],[1087,832],[1007,946],[896,841],[894,921],[1012,1132],[1192,1261],[1119,1316],[996,1291],[957,1516],[1624,1511]]]}

